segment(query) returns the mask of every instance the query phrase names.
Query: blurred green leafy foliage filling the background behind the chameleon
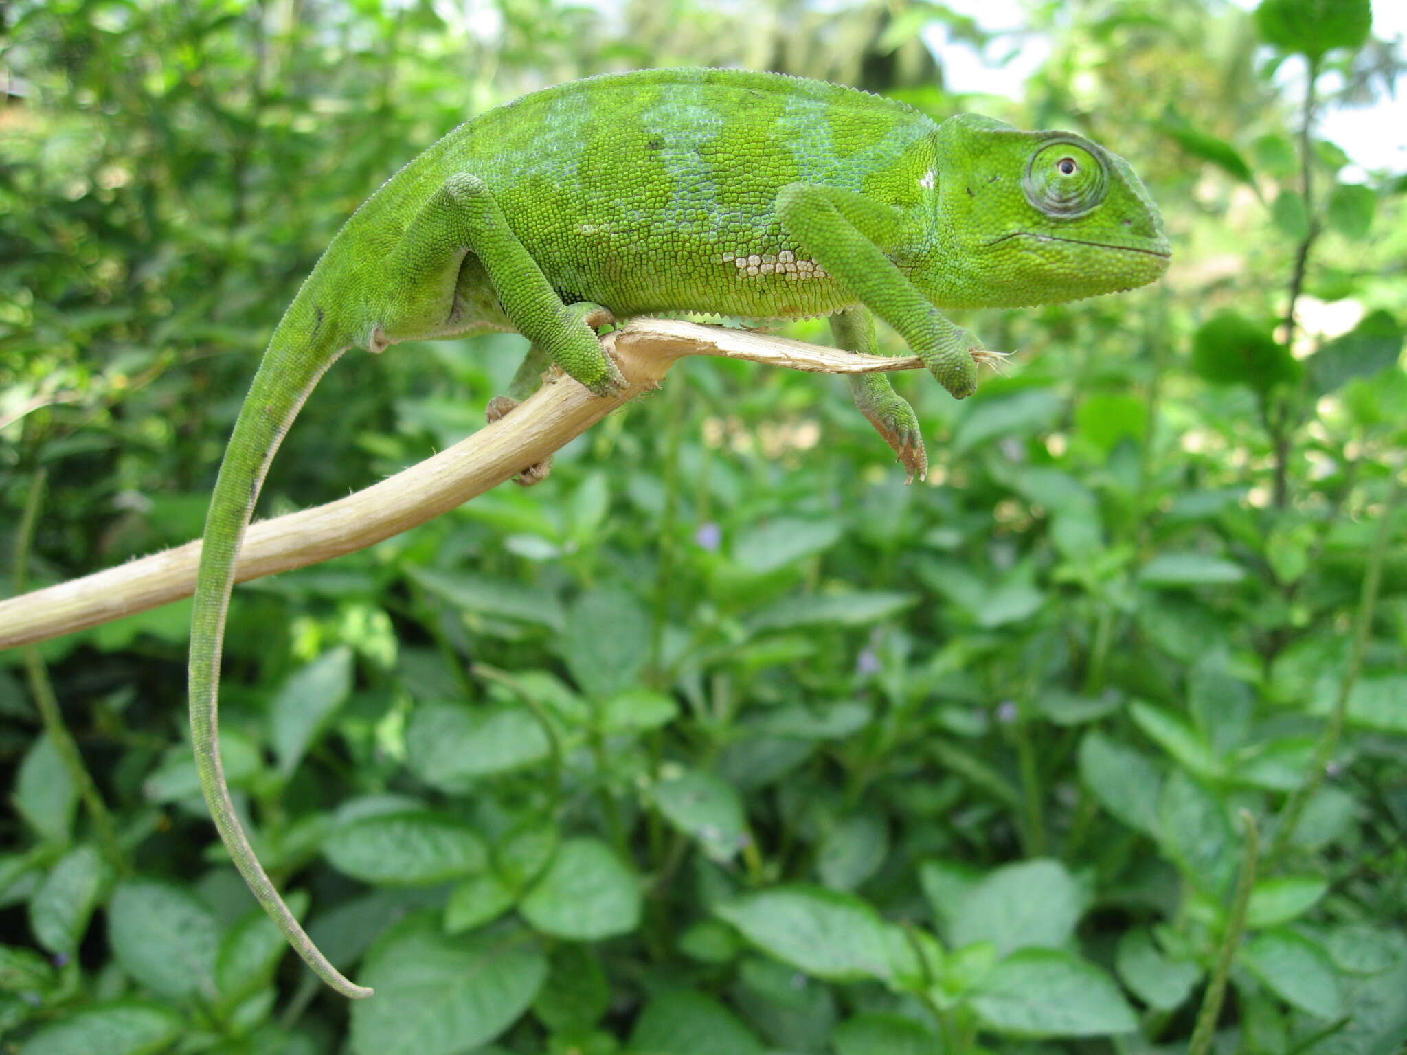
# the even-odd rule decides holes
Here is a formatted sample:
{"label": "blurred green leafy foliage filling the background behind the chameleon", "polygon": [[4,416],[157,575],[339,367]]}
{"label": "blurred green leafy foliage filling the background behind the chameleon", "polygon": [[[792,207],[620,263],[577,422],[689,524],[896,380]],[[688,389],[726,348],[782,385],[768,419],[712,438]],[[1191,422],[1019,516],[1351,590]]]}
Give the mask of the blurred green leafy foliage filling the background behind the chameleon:
{"label": "blurred green leafy foliage filling the background behind the chameleon", "polygon": [[[540,487],[242,588],[225,765],[377,987],[353,1007],[205,819],[187,606],[0,656],[4,1051],[1135,1055],[1188,1051],[1223,982],[1217,1052],[1400,1051],[1407,179],[1317,131],[1400,51],[1366,0],[1033,3],[1048,60],[972,97],[936,28],[1014,44],[909,0],[0,7],[0,546],[38,513],[31,584],[197,535],[332,232],[542,84],[736,63],[1074,127],[1176,246],[1157,288],[961,318],[1019,369],[964,404],[898,380],[927,485],[834,378],[692,362]],[[521,349],[345,359],[263,512],[457,440]]]}

